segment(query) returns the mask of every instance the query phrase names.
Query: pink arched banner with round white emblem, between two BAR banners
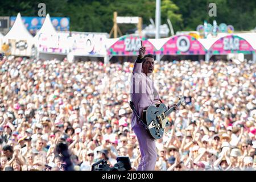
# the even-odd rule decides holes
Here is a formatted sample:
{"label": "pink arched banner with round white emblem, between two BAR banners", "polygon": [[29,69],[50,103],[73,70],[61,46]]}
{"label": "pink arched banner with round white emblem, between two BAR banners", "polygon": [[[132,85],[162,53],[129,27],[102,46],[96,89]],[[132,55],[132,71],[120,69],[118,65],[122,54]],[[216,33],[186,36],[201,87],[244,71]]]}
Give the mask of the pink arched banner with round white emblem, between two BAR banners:
{"label": "pink arched banner with round white emblem, between two BAR banners", "polygon": [[204,46],[189,35],[171,37],[160,51],[162,55],[205,55]]}

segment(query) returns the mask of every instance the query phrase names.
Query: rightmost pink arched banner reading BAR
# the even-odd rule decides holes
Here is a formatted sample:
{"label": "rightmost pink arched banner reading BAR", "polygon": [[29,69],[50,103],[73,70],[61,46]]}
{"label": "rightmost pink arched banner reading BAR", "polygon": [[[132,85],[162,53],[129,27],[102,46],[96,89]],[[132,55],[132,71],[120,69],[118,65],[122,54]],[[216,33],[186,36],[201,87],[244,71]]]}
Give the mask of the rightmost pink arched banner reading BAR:
{"label": "rightmost pink arched banner reading BAR", "polygon": [[218,39],[209,49],[210,54],[251,53],[254,49],[240,36],[228,35]]}

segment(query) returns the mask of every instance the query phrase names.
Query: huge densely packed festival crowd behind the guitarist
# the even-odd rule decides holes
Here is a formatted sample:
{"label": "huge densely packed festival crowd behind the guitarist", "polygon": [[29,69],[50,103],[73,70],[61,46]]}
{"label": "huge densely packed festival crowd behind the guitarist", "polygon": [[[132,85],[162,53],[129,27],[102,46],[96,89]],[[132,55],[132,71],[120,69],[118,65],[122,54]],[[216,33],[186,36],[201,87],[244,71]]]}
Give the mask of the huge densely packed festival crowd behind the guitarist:
{"label": "huge densely packed festival crowd behind the guitarist", "polygon": [[[0,61],[0,170],[60,171],[56,151],[68,144],[73,167],[90,171],[105,159],[141,152],[130,129],[133,62]],[[256,64],[244,61],[159,61],[153,74],[166,105],[185,98],[156,140],[156,170],[256,169]]]}

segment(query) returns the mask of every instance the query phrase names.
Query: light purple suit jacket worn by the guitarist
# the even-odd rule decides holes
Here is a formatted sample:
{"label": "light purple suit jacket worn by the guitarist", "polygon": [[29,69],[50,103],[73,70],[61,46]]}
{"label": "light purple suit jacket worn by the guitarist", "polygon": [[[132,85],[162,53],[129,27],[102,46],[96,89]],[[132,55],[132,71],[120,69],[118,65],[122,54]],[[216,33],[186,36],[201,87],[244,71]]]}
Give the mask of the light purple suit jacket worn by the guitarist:
{"label": "light purple suit jacket worn by the guitarist", "polygon": [[[142,72],[142,63],[135,61],[133,76],[130,85],[131,101],[133,102],[138,114],[142,117],[142,111],[146,107],[159,101],[159,93],[154,87],[154,81]],[[131,129],[137,126],[139,121],[133,112],[131,116]]]}

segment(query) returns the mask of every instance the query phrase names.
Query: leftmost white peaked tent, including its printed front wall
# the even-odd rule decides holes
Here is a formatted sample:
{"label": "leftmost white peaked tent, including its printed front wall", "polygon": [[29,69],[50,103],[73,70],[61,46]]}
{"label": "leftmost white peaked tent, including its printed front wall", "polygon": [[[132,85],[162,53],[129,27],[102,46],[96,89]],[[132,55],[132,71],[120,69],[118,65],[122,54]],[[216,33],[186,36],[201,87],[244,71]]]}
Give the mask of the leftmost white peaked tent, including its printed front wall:
{"label": "leftmost white peaked tent, including its printed front wall", "polygon": [[18,13],[11,30],[3,38],[3,42],[9,44],[11,55],[31,56],[33,37],[24,26],[20,13]]}

